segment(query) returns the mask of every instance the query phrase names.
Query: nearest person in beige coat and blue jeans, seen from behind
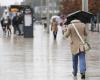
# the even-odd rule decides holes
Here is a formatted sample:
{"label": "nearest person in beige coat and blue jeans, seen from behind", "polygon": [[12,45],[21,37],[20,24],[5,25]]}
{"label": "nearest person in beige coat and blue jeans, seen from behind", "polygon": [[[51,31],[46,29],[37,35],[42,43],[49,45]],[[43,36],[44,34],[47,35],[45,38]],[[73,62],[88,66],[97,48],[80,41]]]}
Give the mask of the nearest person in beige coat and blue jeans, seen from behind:
{"label": "nearest person in beige coat and blue jeans, seen from behind", "polygon": [[[80,74],[81,79],[85,79],[85,72],[86,72],[86,60],[85,60],[85,50],[84,46],[80,46],[82,41],[80,40],[74,26],[78,30],[79,34],[85,40],[87,36],[85,24],[79,20],[71,21],[71,24],[68,25],[67,29],[64,30],[64,36],[70,37],[71,39],[71,52],[72,52],[72,61],[73,61],[73,76],[74,78],[77,77],[78,72],[78,59],[79,59],[79,67],[80,67]],[[79,58],[78,58],[79,57]]]}

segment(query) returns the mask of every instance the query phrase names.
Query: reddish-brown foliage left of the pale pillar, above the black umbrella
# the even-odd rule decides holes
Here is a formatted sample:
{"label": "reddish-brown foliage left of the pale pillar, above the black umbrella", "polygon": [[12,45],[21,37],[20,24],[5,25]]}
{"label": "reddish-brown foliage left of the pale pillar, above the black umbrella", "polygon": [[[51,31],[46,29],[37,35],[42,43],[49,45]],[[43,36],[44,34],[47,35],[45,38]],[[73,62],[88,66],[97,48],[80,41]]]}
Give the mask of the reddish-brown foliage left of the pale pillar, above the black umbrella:
{"label": "reddish-brown foliage left of the pale pillar, above the black umbrella", "polygon": [[81,0],[61,0],[60,12],[62,14],[69,14],[77,10],[81,10]]}

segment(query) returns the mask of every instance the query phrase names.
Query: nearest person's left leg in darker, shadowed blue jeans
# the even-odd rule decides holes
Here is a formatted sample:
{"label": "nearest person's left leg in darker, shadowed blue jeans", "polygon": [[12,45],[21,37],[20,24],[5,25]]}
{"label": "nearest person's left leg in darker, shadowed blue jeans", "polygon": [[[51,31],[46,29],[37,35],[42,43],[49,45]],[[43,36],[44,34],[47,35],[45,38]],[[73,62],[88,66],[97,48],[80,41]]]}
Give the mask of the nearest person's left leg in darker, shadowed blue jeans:
{"label": "nearest person's left leg in darker, shadowed blue jeans", "polygon": [[73,55],[73,75],[77,76],[77,72],[78,72],[78,54],[77,55]]}

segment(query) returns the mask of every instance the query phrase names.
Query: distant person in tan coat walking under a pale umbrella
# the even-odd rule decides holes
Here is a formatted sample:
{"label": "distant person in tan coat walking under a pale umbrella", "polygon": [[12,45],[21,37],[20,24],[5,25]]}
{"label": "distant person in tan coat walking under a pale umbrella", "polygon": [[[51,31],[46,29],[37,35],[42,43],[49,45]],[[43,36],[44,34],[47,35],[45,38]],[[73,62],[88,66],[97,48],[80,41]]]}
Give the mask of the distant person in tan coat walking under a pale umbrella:
{"label": "distant person in tan coat walking under a pale umbrella", "polygon": [[56,18],[53,18],[51,22],[51,31],[53,32],[54,39],[56,39],[58,32],[58,23],[56,21]]}

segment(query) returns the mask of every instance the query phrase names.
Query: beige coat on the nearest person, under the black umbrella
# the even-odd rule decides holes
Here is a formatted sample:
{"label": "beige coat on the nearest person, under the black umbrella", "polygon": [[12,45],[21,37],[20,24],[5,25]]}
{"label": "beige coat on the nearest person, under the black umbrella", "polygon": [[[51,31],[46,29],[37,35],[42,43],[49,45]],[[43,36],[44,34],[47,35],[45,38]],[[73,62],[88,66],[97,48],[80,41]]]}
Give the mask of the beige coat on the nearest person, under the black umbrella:
{"label": "beige coat on the nearest person, under the black umbrella", "polygon": [[[86,31],[86,27],[84,23],[81,23],[79,20],[73,20],[72,21],[73,24],[75,24],[76,28],[78,29],[80,35],[82,36],[82,38],[85,40],[86,36],[87,36],[87,31]],[[64,34],[66,37],[70,36],[71,39],[71,51],[72,54],[77,54],[80,51],[84,51],[84,48],[81,46],[80,44],[82,44],[79,36],[77,35],[74,27],[72,26],[72,24],[68,25],[68,29]]]}

